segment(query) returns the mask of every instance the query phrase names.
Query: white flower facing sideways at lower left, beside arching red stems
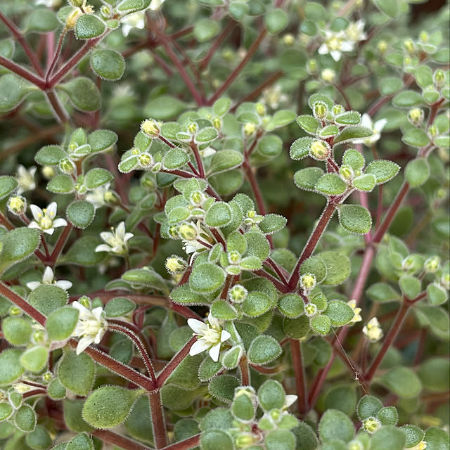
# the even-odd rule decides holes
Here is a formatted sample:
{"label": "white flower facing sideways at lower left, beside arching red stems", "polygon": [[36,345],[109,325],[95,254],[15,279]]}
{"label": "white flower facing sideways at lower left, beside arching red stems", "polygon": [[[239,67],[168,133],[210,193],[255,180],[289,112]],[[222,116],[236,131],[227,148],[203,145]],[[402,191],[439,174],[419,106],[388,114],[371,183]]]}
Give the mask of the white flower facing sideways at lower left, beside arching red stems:
{"label": "white flower facing sideways at lower left, beside arching red stems", "polygon": [[77,326],[75,326],[72,336],[81,338],[77,345],[77,354],[80,354],[89,345],[100,344],[106,328],[108,328],[108,322],[103,316],[102,307],[96,307],[91,311],[79,302],[72,302],[72,307],[79,311]]}

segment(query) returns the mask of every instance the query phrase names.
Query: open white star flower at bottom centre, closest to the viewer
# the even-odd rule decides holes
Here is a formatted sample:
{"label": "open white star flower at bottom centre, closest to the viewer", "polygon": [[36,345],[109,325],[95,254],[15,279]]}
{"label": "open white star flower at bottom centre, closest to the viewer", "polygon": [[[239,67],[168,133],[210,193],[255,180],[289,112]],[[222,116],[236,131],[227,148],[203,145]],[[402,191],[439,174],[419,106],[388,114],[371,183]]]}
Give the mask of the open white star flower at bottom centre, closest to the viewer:
{"label": "open white star flower at bottom centre, closest to the viewer", "polygon": [[219,361],[221,343],[231,338],[231,334],[226,330],[222,330],[219,320],[213,317],[212,314],[208,315],[207,321],[209,323],[198,321],[197,319],[188,319],[188,326],[198,336],[198,340],[194,342],[194,345],[189,350],[189,354],[194,356],[209,350],[212,361],[217,362]]}

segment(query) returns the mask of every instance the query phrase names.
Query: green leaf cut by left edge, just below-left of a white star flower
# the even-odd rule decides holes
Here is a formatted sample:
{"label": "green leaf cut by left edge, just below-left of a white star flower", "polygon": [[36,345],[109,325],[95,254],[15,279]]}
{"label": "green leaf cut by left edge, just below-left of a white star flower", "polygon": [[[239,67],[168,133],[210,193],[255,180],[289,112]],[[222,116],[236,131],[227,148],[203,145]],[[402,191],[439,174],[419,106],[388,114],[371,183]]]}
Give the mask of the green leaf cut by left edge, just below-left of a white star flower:
{"label": "green leaf cut by left edge, just below-left of a white star flower", "polygon": [[8,231],[2,241],[0,252],[0,272],[33,255],[40,243],[36,229],[22,227]]}

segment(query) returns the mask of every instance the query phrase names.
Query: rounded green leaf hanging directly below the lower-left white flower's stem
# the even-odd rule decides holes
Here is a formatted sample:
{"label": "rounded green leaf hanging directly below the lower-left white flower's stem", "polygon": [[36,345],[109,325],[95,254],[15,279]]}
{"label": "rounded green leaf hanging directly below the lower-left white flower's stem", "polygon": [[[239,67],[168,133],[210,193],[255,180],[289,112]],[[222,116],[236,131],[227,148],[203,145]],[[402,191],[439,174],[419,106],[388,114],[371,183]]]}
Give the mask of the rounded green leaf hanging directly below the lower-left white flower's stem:
{"label": "rounded green leaf hanging directly below the lower-left white flower's stem", "polygon": [[86,397],[94,384],[94,362],[85,353],[77,355],[72,350],[66,349],[58,365],[58,376],[64,387]]}

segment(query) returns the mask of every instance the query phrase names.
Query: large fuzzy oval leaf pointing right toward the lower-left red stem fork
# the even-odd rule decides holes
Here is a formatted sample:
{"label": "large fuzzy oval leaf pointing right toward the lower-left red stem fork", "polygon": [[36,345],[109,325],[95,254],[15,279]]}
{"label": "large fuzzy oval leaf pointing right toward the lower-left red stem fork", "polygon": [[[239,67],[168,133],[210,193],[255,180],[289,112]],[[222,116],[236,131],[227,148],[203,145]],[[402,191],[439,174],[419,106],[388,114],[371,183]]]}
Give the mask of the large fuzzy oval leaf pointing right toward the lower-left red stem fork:
{"label": "large fuzzy oval leaf pointing right toward the lower-left red stem fork", "polygon": [[119,386],[103,386],[92,392],[83,406],[83,419],[104,430],[120,425],[143,390],[129,390]]}

